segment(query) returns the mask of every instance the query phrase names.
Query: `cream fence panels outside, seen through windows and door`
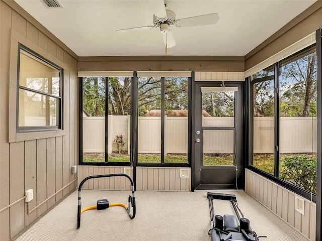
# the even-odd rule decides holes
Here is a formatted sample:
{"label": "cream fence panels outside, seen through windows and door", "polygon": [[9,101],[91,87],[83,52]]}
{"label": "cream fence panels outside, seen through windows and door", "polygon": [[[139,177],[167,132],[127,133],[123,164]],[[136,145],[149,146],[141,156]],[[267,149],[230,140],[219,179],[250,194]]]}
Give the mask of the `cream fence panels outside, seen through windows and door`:
{"label": "cream fence panels outside, seen through windows and door", "polygon": [[[105,152],[104,117],[83,117],[83,152]],[[116,151],[116,135],[124,135],[130,148],[130,116],[109,116],[109,152]],[[203,126],[231,127],[232,117],[203,117]],[[254,118],[254,153],[273,153],[274,118]],[[161,118],[138,117],[138,152],[160,153]],[[280,118],[280,153],[316,152],[316,117]],[[232,130],[204,131],[204,153],[232,153]],[[188,153],[188,118],[165,118],[165,153]]]}

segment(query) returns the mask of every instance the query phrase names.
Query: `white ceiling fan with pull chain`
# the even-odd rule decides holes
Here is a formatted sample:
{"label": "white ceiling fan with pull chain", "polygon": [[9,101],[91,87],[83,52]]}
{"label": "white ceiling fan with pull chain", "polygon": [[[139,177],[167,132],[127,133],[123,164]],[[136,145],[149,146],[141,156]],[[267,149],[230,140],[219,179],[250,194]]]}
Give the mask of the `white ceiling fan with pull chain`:
{"label": "white ceiling fan with pull chain", "polygon": [[133,31],[152,30],[152,29],[158,28],[160,30],[160,33],[163,36],[163,39],[166,45],[166,54],[167,54],[167,49],[176,45],[176,41],[170,30],[172,26],[177,28],[184,28],[184,27],[204,26],[204,25],[215,25],[219,20],[219,16],[217,13],[194,16],[194,17],[184,18],[184,19],[176,19],[176,14],[173,11],[167,9],[168,4],[170,2],[171,0],[149,1],[149,5],[154,11],[152,26],[120,29],[120,30],[116,30],[116,32],[128,33]]}

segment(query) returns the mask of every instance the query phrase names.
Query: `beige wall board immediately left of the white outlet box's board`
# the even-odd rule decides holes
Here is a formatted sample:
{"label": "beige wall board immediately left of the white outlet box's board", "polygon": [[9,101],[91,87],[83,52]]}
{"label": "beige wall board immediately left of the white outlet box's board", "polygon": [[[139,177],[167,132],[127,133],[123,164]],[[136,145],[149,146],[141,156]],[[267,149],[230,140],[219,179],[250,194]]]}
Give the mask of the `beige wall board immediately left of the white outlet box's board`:
{"label": "beige wall board immediately left of the white outlet box's board", "polygon": [[[25,195],[24,192],[24,143],[10,145],[10,203]],[[10,235],[13,237],[25,227],[25,201],[22,200],[10,207]]]}

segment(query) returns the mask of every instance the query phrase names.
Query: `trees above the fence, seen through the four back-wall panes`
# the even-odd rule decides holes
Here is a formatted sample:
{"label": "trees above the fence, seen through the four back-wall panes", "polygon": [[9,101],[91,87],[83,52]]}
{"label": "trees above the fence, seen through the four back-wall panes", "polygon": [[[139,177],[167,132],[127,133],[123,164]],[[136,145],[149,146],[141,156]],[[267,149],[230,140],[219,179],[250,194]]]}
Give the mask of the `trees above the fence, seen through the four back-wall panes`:
{"label": "trees above the fence, seen through the four back-wall panes", "polygon": [[[90,116],[104,116],[105,78],[88,77],[83,80],[84,110]],[[108,78],[108,114],[128,115],[131,111],[131,78]],[[140,77],[138,82],[138,114],[161,108],[161,78]],[[188,79],[166,78],[165,109],[188,108]]]}

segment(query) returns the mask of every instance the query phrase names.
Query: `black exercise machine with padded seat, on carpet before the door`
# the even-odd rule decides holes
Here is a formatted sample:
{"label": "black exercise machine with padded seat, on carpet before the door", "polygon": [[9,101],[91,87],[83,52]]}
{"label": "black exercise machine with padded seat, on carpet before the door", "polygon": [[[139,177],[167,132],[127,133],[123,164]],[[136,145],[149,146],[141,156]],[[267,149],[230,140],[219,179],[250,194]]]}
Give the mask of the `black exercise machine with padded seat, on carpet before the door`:
{"label": "black exercise machine with padded seat, on carpet before the door", "polygon": [[[210,230],[211,241],[258,241],[259,237],[250,227],[250,220],[244,217],[244,214],[238,208],[236,196],[234,194],[208,192],[210,208]],[[215,215],[213,199],[229,200],[239,221],[234,215],[225,214]],[[238,209],[238,210],[237,210]],[[239,212],[238,212],[239,211]],[[240,217],[240,215],[242,217]]]}

